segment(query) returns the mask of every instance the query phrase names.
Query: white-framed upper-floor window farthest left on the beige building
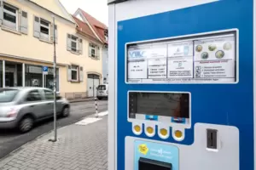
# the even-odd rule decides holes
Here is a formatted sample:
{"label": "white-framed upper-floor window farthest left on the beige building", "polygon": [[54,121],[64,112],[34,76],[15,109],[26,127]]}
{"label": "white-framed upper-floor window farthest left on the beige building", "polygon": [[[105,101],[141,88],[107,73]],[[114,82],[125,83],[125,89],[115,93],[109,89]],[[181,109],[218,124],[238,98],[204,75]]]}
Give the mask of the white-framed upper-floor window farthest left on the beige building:
{"label": "white-framed upper-floor window farthest left on the beige building", "polygon": [[3,3],[3,26],[18,31],[18,8]]}

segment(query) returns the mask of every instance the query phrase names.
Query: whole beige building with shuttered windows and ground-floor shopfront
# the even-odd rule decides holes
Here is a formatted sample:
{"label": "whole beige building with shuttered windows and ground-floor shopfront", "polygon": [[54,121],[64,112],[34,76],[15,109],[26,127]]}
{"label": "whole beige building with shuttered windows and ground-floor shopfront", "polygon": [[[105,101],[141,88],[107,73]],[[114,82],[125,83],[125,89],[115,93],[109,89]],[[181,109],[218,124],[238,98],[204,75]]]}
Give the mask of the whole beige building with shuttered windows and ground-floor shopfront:
{"label": "whole beige building with shuttered windows and ground-floor shopfront", "polygon": [[54,31],[57,91],[67,99],[96,94],[104,44],[87,36],[58,0],[0,0],[0,88],[53,87]]}

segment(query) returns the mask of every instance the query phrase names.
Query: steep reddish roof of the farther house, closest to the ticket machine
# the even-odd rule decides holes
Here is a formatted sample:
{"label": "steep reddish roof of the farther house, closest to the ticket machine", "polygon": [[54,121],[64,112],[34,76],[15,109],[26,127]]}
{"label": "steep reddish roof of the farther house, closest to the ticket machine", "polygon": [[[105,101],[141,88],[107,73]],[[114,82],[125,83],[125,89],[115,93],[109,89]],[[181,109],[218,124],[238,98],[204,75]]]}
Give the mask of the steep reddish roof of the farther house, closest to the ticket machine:
{"label": "steep reddish roof of the farther house, closest to the ticket machine", "polygon": [[91,28],[93,31],[96,32],[96,35],[101,39],[102,42],[108,43],[105,39],[104,31],[108,30],[108,26],[104,25],[99,20],[96,20],[93,16],[86,13],[83,9],[79,8],[81,13],[84,15],[84,18],[89,22]]}

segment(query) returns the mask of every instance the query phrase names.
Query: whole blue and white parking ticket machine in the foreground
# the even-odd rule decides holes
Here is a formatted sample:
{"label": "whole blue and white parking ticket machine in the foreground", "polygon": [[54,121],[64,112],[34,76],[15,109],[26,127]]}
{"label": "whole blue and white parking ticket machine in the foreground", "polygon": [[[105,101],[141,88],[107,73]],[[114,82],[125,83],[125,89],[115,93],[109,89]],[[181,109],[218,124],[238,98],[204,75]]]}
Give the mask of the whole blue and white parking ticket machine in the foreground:
{"label": "whole blue and white parking ticket machine in the foreground", "polygon": [[108,169],[256,169],[255,4],[108,1]]}

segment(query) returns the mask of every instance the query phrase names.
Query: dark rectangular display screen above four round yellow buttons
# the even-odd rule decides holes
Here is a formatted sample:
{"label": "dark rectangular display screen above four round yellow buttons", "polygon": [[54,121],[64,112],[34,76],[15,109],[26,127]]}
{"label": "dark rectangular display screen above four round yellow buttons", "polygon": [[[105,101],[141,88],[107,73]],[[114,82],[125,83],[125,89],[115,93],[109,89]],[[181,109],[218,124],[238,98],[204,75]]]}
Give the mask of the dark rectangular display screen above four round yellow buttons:
{"label": "dark rectangular display screen above four round yellow buttons", "polygon": [[129,93],[129,118],[188,122],[189,93]]}

